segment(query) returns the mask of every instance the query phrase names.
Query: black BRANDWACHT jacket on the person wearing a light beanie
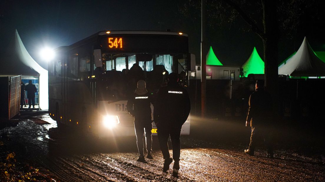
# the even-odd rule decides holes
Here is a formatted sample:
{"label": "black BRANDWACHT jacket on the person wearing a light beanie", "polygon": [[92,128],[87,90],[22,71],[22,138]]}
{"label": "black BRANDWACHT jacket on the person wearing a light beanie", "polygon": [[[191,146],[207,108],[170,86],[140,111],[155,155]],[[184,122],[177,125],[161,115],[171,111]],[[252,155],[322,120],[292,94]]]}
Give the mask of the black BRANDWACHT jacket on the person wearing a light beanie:
{"label": "black BRANDWACHT jacket on the person wearing a light beanie", "polygon": [[127,111],[134,116],[135,122],[152,122],[151,108],[152,102],[151,94],[138,95],[134,93],[126,104]]}

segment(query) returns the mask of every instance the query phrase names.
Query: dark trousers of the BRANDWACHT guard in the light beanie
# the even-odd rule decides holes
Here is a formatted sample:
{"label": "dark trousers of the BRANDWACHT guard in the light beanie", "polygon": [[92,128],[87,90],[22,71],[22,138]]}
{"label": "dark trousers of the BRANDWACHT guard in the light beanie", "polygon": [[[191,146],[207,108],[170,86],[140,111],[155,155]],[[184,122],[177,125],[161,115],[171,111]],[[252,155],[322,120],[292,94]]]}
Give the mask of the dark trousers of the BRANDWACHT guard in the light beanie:
{"label": "dark trousers of the BRANDWACHT guard in the light beanie", "polygon": [[[134,122],[134,128],[136,130],[136,145],[138,147],[139,155],[143,155],[143,131],[145,133],[146,137],[146,149],[148,154],[151,153],[151,147],[152,147],[152,137],[151,137],[151,130],[152,130],[152,123],[146,122]],[[143,130],[144,129],[144,130]]]}

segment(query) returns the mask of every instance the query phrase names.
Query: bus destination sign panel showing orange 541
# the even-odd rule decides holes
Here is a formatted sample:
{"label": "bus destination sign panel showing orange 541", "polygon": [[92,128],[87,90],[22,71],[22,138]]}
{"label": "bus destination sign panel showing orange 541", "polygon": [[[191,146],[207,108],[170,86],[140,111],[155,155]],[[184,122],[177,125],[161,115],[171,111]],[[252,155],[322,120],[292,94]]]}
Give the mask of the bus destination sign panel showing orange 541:
{"label": "bus destination sign panel showing orange 541", "polygon": [[185,53],[188,38],[179,35],[127,35],[103,36],[99,39],[102,52],[114,53]]}

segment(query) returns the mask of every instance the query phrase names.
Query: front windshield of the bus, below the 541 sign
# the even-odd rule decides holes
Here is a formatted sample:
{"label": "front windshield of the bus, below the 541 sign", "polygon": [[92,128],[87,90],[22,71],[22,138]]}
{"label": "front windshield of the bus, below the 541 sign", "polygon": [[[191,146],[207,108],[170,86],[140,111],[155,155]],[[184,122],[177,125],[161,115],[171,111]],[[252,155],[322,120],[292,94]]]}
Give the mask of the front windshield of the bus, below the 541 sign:
{"label": "front windshield of the bus, below the 541 sign", "polygon": [[98,100],[127,99],[135,91],[138,80],[145,80],[148,92],[155,93],[167,82],[174,66],[173,56],[169,54],[153,54],[151,61],[136,60],[136,55],[103,57],[106,64],[105,70],[98,73]]}

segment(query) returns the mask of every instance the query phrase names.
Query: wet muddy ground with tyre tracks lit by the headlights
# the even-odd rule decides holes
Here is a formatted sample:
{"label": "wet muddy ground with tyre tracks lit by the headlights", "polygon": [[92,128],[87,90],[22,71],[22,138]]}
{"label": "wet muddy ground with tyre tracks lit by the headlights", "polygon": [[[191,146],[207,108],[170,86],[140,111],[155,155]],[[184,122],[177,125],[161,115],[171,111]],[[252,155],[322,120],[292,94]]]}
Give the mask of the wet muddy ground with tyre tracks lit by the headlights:
{"label": "wet muddy ground with tyre tracks lit by the headlights", "polygon": [[255,156],[243,153],[250,136],[244,121],[191,119],[179,171],[162,172],[156,137],[154,159],[141,163],[135,137],[99,140],[59,130],[46,111],[22,113],[16,126],[0,130],[1,160],[14,152],[17,170],[33,166],[45,176],[40,181],[325,181],[322,128],[276,126],[269,159],[263,145]]}

